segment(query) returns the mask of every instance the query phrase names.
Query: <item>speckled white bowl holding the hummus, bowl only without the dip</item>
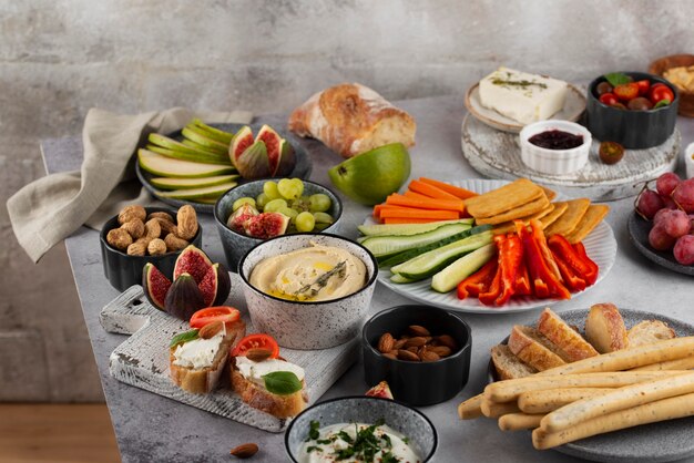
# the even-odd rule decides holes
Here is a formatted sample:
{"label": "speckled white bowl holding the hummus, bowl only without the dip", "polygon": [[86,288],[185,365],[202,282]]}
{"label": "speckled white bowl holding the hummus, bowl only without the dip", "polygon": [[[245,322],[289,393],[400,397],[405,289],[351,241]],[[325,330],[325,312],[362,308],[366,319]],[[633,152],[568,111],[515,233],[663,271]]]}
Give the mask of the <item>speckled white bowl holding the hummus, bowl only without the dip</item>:
{"label": "speckled white bowl holding the hummus, bowl only without the dip", "polygon": [[[349,296],[326,301],[280,299],[254,288],[254,267],[263,259],[309,247],[312,243],[346,249],[366,265],[366,285]],[[354,339],[374,295],[378,265],[364,246],[337,235],[294,234],[261,243],[238,263],[238,275],[255,329],[272,335],[290,349],[327,349]]]}

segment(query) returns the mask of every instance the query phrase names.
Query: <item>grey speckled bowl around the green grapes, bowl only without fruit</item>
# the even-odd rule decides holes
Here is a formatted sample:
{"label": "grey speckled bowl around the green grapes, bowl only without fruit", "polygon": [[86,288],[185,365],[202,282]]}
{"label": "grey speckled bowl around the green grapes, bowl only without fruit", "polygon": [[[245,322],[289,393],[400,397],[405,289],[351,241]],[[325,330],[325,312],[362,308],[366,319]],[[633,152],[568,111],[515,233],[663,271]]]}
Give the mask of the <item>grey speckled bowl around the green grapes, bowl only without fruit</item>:
{"label": "grey speckled bowl around the green grapes, bowl only without fruit", "polygon": [[[224,255],[226,256],[228,268],[231,268],[232,271],[235,271],[236,266],[244,254],[246,254],[252,247],[263,243],[263,239],[251,238],[236,233],[226,226],[226,220],[232,215],[232,206],[238,198],[257,197],[261,193],[263,193],[263,185],[265,182],[271,179],[275,182],[278,181],[278,178],[264,178],[232,188],[220,197],[214,206],[214,218],[217,225],[217,232],[220,233],[220,238],[222,239],[222,247],[224,248]],[[335,223],[325,228],[323,232],[338,234],[341,225],[340,217],[343,215],[343,203],[340,199],[335,195],[335,193],[323,185],[308,181],[303,182],[304,196],[323,193],[330,198],[333,206],[327,210],[327,213],[335,218]]]}

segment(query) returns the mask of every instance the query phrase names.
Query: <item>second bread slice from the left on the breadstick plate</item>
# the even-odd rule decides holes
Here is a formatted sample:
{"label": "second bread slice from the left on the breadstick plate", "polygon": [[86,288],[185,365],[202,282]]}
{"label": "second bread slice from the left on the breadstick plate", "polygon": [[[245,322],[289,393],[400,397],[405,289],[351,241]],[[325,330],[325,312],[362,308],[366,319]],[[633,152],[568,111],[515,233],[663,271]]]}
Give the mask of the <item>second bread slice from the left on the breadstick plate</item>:
{"label": "second bread slice from the left on the breadstick plate", "polygon": [[565,364],[565,353],[547,339],[540,331],[521,325],[513,326],[509,337],[509,349],[523,363],[538,371]]}

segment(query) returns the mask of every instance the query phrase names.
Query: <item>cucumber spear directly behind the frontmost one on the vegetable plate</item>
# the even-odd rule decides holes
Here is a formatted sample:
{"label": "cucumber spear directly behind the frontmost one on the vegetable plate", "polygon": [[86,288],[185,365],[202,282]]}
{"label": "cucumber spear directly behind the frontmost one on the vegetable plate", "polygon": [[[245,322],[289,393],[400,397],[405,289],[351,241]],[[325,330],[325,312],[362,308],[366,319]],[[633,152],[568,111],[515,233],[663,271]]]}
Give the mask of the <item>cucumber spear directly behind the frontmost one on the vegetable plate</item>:
{"label": "cucumber spear directly behind the frontmost one on the vegetable plate", "polygon": [[482,232],[459,241],[430,250],[390,269],[411,280],[421,280],[438,272],[463,254],[473,251],[492,241],[491,232]]}

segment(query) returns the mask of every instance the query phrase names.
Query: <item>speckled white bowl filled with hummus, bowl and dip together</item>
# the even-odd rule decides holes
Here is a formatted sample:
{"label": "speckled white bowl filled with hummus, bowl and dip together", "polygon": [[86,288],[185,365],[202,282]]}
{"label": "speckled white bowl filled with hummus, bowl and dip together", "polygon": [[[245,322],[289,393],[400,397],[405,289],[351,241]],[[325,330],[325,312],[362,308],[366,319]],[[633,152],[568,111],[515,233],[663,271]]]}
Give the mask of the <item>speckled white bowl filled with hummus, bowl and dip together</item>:
{"label": "speckled white bowl filled with hummus, bowl and dip together", "polygon": [[[318,274],[316,278],[306,274],[305,268],[297,267],[297,259],[292,257],[287,264],[292,266],[292,271],[283,274],[283,281],[277,285],[273,285],[273,279],[277,278],[274,271],[261,277],[253,275],[258,264],[268,260],[275,261],[272,266],[275,270],[286,270],[283,269],[283,259],[287,255],[292,256],[290,253],[309,248],[317,249],[317,253],[330,249],[330,255],[322,256],[320,263],[309,255],[303,255],[298,260],[304,261],[306,267],[323,267],[325,271]],[[340,256],[353,256],[357,260],[349,263],[351,259],[343,259]],[[315,261],[313,265],[312,259]],[[331,268],[326,267],[326,261]],[[340,263],[347,265],[340,266]],[[333,272],[333,277],[324,278],[323,281],[329,282],[316,287],[315,292],[318,294],[319,288],[327,287],[335,291],[336,297],[326,300],[279,297],[277,286],[283,287],[282,285],[286,284],[284,287],[292,287],[294,282],[289,279],[295,271],[302,274],[300,277],[315,281],[318,281],[322,275]],[[283,235],[262,241],[241,259],[238,275],[251,320],[257,331],[272,335],[284,348],[328,349],[357,337],[369,311],[378,265],[374,255],[358,243],[337,235],[306,233]],[[349,288],[345,290],[343,286]]]}

